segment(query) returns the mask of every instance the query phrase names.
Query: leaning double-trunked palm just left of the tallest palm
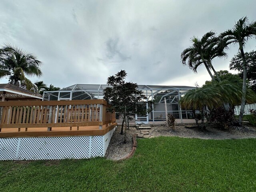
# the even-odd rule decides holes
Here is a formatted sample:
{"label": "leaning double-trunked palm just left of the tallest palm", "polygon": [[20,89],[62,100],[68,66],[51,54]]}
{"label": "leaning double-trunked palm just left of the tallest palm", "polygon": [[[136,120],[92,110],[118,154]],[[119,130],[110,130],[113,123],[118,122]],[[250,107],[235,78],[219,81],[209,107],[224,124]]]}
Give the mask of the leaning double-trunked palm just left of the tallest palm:
{"label": "leaning double-trunked palm just left of the tallest palm", "polygon": [[210,71],[211,69],[220,82],[220,78],[212,66],[212,60],[215,57],[226,57],[227,54],[224,52],[222,44],[219,44],[220,39],[216,37],[216,33],[210,31],[201,39],[193,37],[191,38],[191,41],[192,46],[185,49],[181,54],[182,64],[188,65],[188,67],[195,73],[197,72],[198,66],[204,64],[212,80],[215,81],[212,72]]}

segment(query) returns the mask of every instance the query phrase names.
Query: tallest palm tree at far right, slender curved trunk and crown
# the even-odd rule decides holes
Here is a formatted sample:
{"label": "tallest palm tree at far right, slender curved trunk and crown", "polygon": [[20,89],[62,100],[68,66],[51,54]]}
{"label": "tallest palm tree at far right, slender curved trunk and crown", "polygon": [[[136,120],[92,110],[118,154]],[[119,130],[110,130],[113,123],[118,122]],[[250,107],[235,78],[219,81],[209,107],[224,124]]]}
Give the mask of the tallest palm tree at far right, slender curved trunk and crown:
{"label": "tallest palm tree at far right, slender curved trunk and crown", "polygon": [[244,54],[244,46],[248,39],[256,37],[256,22],[249,23],[247,17],[243,17],[238,22],[236,22],[235,26],[232,29],[226,30],[225,32],[220,34],[220,38],[222,38],[223,42],[228,44],[239,44],[239,50],[242,55],[243,62],[243,87],[242,87],[242,101],[241,101],[241,109],[239,115],[239,124],[242,124],[242,118],[244,115],[244,107],[246,102],[246,78],[247,78],[247,62]]}

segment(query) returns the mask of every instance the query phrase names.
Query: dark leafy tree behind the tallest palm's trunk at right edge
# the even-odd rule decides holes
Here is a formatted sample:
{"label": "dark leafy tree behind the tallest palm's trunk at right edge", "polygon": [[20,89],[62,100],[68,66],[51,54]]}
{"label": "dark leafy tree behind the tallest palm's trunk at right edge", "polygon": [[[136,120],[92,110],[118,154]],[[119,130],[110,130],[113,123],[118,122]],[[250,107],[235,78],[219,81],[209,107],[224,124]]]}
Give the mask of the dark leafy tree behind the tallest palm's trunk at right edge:
{"label": "dark leafy tree behind the tallest palm's trunk at right edge", "polygon": [[[249,88],[256,92],[256,51],[244,53],[247,61],[247,80],[249,81]],[[232,70],[238,70],[238,75],[243,78],[243,60],[241,53],[236,54],[230,61],[229,68]]]}

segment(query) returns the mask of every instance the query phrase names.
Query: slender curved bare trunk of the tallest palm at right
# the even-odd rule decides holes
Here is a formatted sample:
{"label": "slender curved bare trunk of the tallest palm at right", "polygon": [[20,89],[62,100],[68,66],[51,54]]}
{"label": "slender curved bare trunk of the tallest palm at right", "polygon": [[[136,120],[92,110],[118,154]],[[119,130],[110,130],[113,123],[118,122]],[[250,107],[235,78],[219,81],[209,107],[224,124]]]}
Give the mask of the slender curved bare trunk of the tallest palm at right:
{"label": "slender curved bare trunk of the tallest palm at right", "polygon": [[239,49],[242,55],[242,61],[243,61],[243,70],[244,70],[244,78],[243,78],[243,89],[242,89],[242,102],[241,102],[241,108],[240,108],[240,114],[239,114],[239,125],[242,125],[242,119],[244,116],[244,107],[246,102],[246,79],[247,79],[247,62],[244,55],[244,49],[242,46],[242,43],[239,42]]}

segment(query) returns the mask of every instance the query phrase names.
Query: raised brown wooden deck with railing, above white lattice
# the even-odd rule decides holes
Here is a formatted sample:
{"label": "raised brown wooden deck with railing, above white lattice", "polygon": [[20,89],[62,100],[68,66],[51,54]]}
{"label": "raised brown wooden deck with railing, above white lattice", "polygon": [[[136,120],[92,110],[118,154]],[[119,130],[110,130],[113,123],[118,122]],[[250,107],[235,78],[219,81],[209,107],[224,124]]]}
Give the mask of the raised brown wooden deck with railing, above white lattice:
{"label": "raised brown wooden deck with railing, above white lattice", "polygon": [[95,136],[116,126],[104,100],[0,102],[0,137]]}

